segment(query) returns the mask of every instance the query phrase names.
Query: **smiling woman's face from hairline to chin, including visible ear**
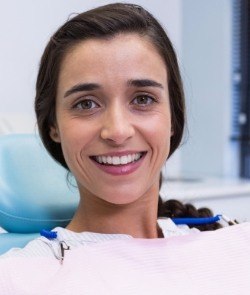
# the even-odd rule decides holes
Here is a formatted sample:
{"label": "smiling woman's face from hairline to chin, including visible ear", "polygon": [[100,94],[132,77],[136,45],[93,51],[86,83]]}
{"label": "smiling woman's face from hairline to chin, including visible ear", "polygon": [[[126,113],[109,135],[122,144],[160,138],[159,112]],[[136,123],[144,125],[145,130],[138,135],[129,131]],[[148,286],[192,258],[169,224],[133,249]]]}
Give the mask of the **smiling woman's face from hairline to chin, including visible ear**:
{"label": "smiling woman's face from hairline to chin, including visible ear", "polygon": [[137,34],[83,41],[63,60],[51,137],[81,195],[128,204],[157,190],[171,137],[168,77]]}

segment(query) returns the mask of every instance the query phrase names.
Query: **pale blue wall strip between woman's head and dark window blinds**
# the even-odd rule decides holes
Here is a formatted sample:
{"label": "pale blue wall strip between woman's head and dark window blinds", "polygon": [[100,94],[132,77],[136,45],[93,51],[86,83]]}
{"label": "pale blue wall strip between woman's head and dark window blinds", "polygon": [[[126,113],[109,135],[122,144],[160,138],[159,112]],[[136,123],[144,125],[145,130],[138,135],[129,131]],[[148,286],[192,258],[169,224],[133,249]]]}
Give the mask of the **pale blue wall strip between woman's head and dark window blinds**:
{"label": "pale blue wall strip between woman's head and dark window blinds", "polygon": [[182,174],[225,176],[231,105],[231,1],[182,1],[182,72],[188,109],[188,135],[182,148]]}

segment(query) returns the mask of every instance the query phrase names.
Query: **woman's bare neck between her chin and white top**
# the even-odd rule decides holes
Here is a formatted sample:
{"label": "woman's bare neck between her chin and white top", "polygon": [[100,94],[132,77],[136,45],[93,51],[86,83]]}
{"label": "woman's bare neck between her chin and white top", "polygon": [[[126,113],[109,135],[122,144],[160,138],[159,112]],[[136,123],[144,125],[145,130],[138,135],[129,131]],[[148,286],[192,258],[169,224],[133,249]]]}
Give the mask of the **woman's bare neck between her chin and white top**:
{"label": "woman's bare neck between her chin and white top", "polygon": [[125,205],[111,204],[85,193],[67,229],[153,239],[161,236],[157,209],[158,189],[150,189],[140,199]]}

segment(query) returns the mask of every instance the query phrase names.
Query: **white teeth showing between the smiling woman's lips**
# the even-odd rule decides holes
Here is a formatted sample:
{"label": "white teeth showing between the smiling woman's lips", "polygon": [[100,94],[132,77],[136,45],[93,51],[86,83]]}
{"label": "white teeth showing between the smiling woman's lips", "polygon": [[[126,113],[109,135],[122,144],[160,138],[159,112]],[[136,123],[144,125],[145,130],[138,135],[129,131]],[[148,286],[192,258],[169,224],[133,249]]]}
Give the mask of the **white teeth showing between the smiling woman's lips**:
{"label": "white teeth showing between the smiling woman's lips", "polygon": [[122,166],[139,161],[147,152],[133,153],[125,156],[91,156],[98,164],[105,166]]}

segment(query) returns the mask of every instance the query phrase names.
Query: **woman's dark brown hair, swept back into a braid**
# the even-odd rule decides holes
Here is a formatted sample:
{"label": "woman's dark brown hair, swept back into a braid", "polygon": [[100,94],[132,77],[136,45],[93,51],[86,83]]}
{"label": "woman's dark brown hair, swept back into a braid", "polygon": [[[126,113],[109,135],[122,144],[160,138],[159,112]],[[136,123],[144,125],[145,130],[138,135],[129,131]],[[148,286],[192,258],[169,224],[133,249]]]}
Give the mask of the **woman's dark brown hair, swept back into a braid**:
{"label": "woman's dark brown hair, swept back into a braid", "polygon": [[[169,77],[168,88],[173,130],[169,157],[182,140],[185,103],[178,62],[171,41],[159,22],[141,6],[125,3],[109,4],[78,14],[68,20],[50,38],[41,58],[35,97],[38,129],[45,148],[66,169],[68,166],[61,144],[54,142],[50,137],[50,127],[55,126],[56,122],[55,105],[61,63],[67,52],[78,43],[89,38],[108,39],[119,33],[136,33],[147,37],[164,59]],[[168,203],[163,204],[159,199],[159,215],[173,217],[172,209],[169,209],[172,206],[169,207],[166,204]],[[176,206],[180,204],[176,203]],[[196,215],[192,210],[179,210],[178,212],[180,211],[182,211],[181,216],[183,214],[186,216],[186,213],[188,216]],[[207,213],[210,212],[206,212],[205,215]],[[174,215],[178,217],[180,214],[175,213]],[[200,215],[204,214],[200,213]]]}

